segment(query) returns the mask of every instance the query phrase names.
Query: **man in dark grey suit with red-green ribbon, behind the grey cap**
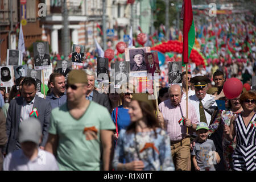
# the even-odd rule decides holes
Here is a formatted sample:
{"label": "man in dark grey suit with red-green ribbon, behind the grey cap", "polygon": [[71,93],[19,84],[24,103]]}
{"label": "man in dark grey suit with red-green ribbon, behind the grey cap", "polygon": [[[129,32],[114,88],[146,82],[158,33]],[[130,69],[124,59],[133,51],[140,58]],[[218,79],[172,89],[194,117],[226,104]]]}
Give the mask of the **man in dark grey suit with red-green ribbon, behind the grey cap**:
{"label": "man in dark grey suit with red-green ribbon, behind the grey cap", "polygon": [[6,118],[6,133],[8,142],[5,146],[5,153],[20,149],[18,142],[19,123],[25,119],[36,117],[42,125],[42,142],[40,148],[44,148],[48,137],[49,118],[51,104],[49,101],[36,96],[36,82],[31,77],[22,81],[22,97],[16,97],[10,102]]}

